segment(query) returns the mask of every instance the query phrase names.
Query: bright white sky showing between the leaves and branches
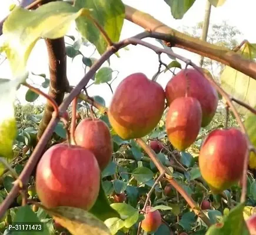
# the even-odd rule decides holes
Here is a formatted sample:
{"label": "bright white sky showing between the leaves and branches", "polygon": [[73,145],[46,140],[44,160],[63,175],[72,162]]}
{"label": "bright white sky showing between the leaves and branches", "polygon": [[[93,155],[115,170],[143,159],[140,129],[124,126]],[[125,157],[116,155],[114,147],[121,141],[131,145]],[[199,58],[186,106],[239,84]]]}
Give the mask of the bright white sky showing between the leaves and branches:
{"label": "bright white sky showing between the leaves and branches", "polygon": [[[164,0],[122,0],[124,4],[137,8],[141,11],[147,12],[154,16],[154,18],[163,22],[174,29],[180,29],[182,26],[195,26],[198,22],[204,20],[204,9],[206,0],[197,0],[194,5],[188,10],[182,19],[174,19],[171,15],[169,6]],[[15,3],[14,0],[1,0],[0,1],[0,19],[4,18],[9,14],[9,5]],[[156,4],[157,2],[157,4]],[[256,1],[255,0],[227,0],[224,5],[215,8],[212,6],[211,9],[211,24],[220,24],[222,21],[227,21],[228,24],[232,26],[237,26],[237,28],[242,32],[242,36],[238,38],[238,41],[247,39],[251,43],[256,43],[256,33],[252,28],[252,19],[255,15]],[[120,39],[125,39],[130,36],[136,35],[137,33],[143,32],[144,29],[132,24],[131,22],[125,21],[122,28],[122,33]],[[77,35],[74,29],[71,28],[69,34]],[[154,39],[146,39],[146,41],[151,42],[154,45],[161,46]],[[0,43],[1,43],[0,38]],[[67,42],[71,42],[68,41]],[[119,51],[121,58],[113,55],[110,59],[111,68],[113,70],[118,70],[118,77],[112,83],[112,88],[115,90],[118,84],[126,76],[135,72],[142,72],[152,78],[158,70],[158,56],[155,52],[148,48],[142,46],[128,46],[129,50],[125,51],[122,49]],[[91,55],[94,51],[93,46],[84,47],[81,49],[85,56]],[[198,63],[200,56],[194,53],[187,52],[183,49],[174,48],[174,52],[191,59],[193,62]],[[99,58],[99,55],[95,53],[92,57]],[[165,63],[171,62],[167,56],[162,56],[162,61]],[[184,65],[184,64],[183,64]],[[104,66],[108,66],[108,63],[104,63]],[[33,73],[45,73],[46,78],[49,78],[48,72],[48,55],[46,52],[46,46],[43,39],[39,40],[35,48],[33,49],[31,55],[29,56],[27,69]],[[117,73],[113,73],[115,76]],[[82,56],[77,56],[73,61],[71,58],[67,59],[67,76],[70,85],[76,85],[79,80],[84,76],[84,69],[82,68]],[[9,68],[8,61],[5,61],[0,65],[0,78],[12,79],[11,70]],[[157,82],[165,88],[168,80],[171,78],[171,73],[162,73]],[[43,80],[41,78],[34,77],[31,80],[34,83],[40,84]],[[36,84],[35,84],[36,86]],[[36,86],[38,87],[38,86]],[[27,88],[21,88],[18,90],[17,98],[21,103],[26,103],[25,92]],[[47,92],[47,89],[42,89]],[[92,85],[88,88],[88,94],[90,96],[100,95],[105,99],[107,106],[111,101],[112,93],[106,84]],[[40,98],[39,102],[45,102],[44,98]]]}

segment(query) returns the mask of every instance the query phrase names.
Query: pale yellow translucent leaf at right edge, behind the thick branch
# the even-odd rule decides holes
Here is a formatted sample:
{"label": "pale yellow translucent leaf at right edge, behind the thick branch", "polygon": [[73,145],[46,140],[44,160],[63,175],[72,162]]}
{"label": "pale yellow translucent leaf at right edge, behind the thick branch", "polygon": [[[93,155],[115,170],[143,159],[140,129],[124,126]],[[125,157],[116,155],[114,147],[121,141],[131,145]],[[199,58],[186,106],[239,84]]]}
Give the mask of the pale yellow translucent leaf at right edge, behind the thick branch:
{"label": "pale yellow translucent leaf at right edge, behind the thick branch", "polygon": [[[250,43],[245,43],[237,53],[245,59],[251,60],[252,49]],[[234,98],[239,99],[252,107],[256,106],[256,80],[250,78],[250,76],[247,76],[229,66],[225,66],[225,69],[221,74],[221,87],[225,92],[234,96]],[[247,115],[250,113],[248,109],[235,102],[234,105],[241,115]]]}

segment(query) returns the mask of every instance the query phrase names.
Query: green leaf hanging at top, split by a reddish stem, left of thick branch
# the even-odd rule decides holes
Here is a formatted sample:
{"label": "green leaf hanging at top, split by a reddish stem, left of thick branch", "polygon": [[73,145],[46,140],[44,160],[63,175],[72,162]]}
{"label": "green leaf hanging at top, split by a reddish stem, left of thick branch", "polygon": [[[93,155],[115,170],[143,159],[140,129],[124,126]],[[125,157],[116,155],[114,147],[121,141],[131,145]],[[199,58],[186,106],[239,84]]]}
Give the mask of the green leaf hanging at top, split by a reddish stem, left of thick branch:
{"label": "green leaf hanging at top, split by a reddish stem, left of thick branch", "polygon": [[[119,41],[125,17],[125,7],[121,0],[75,0],[74,5],[78,9],[93,9],[91,15],[95,21],[113,42]],[[104,53],[108,45],[95,24],[85,16],[79,16],[75,22],[81,35],[93,43],[100,54]]]}

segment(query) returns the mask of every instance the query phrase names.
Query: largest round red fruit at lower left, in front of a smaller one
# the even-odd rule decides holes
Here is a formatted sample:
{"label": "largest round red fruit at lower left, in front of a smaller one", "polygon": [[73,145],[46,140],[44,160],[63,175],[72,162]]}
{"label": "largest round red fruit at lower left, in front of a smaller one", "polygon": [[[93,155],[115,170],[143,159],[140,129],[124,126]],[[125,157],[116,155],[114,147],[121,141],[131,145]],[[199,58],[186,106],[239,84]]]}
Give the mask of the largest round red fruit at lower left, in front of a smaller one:
{"label": "largest round red fruit at lower left, in front of a smaller one", "polygon": [[100,170],[94,154],[79,146],[50,147],[36,168],[36,192],[44,206],[89,210],[97,200]]}

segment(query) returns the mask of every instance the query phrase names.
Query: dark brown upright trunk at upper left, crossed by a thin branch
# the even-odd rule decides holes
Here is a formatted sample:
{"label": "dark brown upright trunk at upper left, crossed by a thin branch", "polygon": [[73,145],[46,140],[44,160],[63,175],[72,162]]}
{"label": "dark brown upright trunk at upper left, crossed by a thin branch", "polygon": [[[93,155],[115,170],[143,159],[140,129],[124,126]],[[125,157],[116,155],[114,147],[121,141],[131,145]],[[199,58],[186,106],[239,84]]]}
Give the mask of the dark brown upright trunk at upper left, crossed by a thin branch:
{"label": "dark brown upright trunk at upper left, crossed by a thin branch", "polygon": [[[55,100],[57,105],[61,105],[64,99],[65,92],[69,88],[67,79],[67,58],[65,50],[64,38],[58,39],[45,39],[48,58],[49,58],[49,71],[50,71],[50,88],[48,95]],[[47,100],[45,106],[44,116],[39,125],[37,139],[39,140],[44,133],[46,126],[52,118],[54,108]]]}

